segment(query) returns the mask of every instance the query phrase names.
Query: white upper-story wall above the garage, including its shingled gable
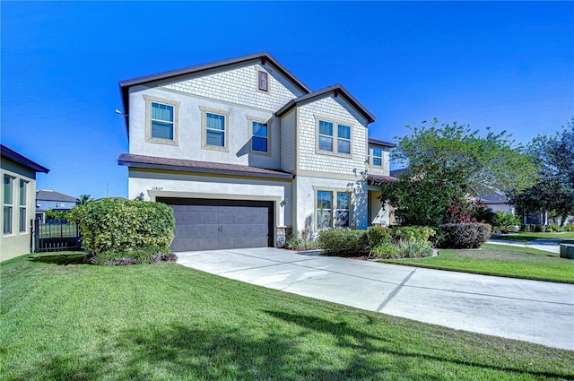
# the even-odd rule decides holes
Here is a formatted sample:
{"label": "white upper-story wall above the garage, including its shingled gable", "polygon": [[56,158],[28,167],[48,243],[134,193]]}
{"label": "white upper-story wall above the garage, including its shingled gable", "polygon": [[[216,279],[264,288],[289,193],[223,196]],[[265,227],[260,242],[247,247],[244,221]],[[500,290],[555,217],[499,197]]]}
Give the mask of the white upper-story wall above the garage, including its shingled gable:
{"label": "white upper-story wall above the garage, including its shingled gable", "polygon": [[[269,91],[257,88],[257,72],[269,76]],[[281,167],[280,121],[274,111],[302,92],[271,65],[239,65],[221,72],[187,76],[178,81],[155,82],[130,88],[129,152],[171,159],[200,160],[249,165],[267,169]],[[144,96],[179,102],[176,144],[146,142]],[[229,115],[227,150],[202,147],[202,109]],[[268,121],[270,154],[249,152],[249,118]]]}

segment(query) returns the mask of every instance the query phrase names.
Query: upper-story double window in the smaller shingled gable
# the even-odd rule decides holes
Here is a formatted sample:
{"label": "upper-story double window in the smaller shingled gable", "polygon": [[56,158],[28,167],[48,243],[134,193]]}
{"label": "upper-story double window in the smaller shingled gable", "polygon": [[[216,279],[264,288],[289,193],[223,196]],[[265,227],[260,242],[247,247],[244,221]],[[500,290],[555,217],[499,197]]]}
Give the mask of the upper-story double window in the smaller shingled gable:
{"label": "upper-story double window in the smaller shingled gable", "polygon": [[352,156],[352,127],[326,118],[317,120],[317,153]]}

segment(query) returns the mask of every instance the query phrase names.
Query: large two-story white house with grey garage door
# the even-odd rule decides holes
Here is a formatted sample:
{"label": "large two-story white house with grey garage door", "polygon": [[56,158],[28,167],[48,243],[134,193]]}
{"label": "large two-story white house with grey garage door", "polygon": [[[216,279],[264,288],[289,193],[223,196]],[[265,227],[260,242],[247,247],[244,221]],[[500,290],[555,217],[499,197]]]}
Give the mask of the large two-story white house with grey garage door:
{"label": "large two-story white house with grey garage door", "polygon": [[[313,228],[388,223],[393,144],[340,84],[311,91],[267,53],[119,82],[128,198],[176,216],[175,251],[281,246]],[[309,219],[310,217],[310,219]]]}

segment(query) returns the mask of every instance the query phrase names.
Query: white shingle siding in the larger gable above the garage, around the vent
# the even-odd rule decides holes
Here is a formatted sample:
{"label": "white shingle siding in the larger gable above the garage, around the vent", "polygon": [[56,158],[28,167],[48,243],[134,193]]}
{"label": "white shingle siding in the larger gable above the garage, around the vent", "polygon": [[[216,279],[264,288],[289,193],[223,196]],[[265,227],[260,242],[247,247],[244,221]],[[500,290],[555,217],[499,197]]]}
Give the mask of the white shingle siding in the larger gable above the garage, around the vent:
{"label": "white shingle siding in the larger gable above the garage, around the vent", "polygon": [[[267,92],[257,88],[258,70],[269,73]],[[242,65],[222,72],[202,73],[185,80],[163,84],[163,87],[269,111],[276,111],[303,94],[271,65],[259,64]]]}

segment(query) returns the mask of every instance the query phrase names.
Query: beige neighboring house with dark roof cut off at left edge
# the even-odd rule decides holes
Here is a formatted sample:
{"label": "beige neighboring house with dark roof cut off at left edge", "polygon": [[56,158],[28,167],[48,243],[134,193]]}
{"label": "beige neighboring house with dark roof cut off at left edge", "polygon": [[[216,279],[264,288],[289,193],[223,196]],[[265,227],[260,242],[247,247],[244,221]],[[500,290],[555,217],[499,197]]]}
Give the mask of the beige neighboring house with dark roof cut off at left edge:
{"label": "beige neighboring house with dark roof cut off at left edge", "polygon": [[30,253],[31,229],[34,219],[36,173],[49,169],[0,144],[2,175],[2,236],[0,261]]}

